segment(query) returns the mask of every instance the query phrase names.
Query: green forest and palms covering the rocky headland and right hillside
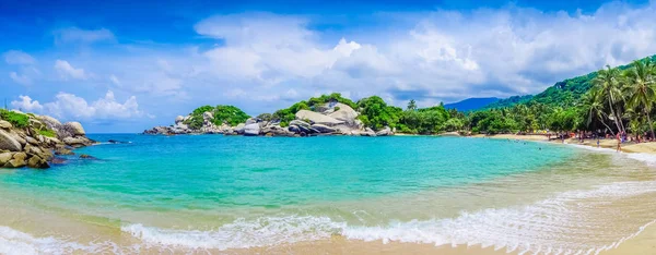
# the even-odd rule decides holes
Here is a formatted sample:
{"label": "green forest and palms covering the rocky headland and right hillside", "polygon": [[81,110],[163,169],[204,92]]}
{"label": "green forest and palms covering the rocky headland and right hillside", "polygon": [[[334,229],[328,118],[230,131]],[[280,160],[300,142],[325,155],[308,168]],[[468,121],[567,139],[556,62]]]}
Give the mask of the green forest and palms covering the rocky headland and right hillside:
{"label": "green forest and palms covering the rocky headland and right hillside", "polygon": [[[419,108],[414,100],[403,109],[387,105],[378,96],[353,101],[333,93],[257,118],[286,126],[300,110],[316,110],[326,102],[338,101],[359,111],[358,119],[374,131],[385,126],[408,134],[595,131],[654,137],[655,63],[656,56],[653,56],[618,68],[607,65],[597,72],[558,82],[538,95],[515,96],[468,112],[446,109],[443,104]],[[204,106],[190,114],[188,123],[201,124],[206,111],[213,112],[216,124],[235,125],[249,118],[233,106]]]}

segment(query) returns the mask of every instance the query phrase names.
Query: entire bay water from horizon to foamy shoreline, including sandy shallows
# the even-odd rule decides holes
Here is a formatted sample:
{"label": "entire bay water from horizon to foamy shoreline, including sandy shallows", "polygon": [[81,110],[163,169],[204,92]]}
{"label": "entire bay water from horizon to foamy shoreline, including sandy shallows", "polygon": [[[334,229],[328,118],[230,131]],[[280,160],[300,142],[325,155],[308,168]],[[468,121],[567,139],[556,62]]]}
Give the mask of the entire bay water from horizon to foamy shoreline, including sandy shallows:
{"label": "entire bay water from horizon to foamy shoreline, including sandy shallows", "polygon": [[91,137],[130,143],[1,171],[0,253],[236,251],[336,235],[596,253],[656,220],[649,156],[427,136]]}

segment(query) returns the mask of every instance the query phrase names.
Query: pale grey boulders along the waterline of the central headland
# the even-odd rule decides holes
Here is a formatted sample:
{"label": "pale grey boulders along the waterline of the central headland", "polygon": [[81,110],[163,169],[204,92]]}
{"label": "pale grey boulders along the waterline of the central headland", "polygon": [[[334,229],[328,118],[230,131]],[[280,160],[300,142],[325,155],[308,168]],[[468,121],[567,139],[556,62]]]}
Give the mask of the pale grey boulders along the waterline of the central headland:
{"label": "pale grey boulders along the waterline of the central headland", "polygon": [[279,121],[265,121],[250,118],[246,123],[236,126],[222,124],[216,126],[212,120],[211,112],[203,113],[203,124],[198,130],[192,130],[185,124],[190,116],[178,116],[175,124],[171,126],[155,126],[147,130],[144,134],[225,134],[245,136],[309,136],[309,135],[360,135],[360,136],[386,136],[394,135],[389,127],[378,132],[365,129],[362,121],[358,120],[360,113],[348,105],[340,102],[325,104],[317,107],[316,111],[300,110],[296,119],[282,126]]}

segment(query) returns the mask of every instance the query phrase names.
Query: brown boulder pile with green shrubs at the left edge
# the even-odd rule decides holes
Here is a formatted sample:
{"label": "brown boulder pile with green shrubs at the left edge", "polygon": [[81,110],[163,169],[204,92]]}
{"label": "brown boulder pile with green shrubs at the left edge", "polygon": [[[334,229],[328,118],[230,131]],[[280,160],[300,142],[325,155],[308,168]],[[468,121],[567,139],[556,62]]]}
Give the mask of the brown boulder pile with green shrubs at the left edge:
{"label": "brown boulder pile with green shrubs at the left edge", "polygon": [[0,168],[49,168],[48,162],[55,158],[55,154],[70,153],[69,148],[94,143],[85,136],[79,122],[61,124],[47,116],[27,117],[28,125],[25,127],[0,120]]}

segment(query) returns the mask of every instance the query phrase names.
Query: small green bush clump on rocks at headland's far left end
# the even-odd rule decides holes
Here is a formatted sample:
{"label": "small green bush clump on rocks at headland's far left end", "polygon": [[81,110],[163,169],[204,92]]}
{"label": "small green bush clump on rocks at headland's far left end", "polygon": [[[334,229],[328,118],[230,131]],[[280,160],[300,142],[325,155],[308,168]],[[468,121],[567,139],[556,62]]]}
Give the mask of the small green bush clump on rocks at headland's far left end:
{"label": "small green bush clump on rocks at headland's far left end", "polygon": [[189,125],[189,127],[196,129],[196,130],[202,127],[202,123],[203,123],[202,114],[208,111],[212,112],[212,116],[213,116],[212,123],[214,123],[215,125],[230,124],[232,126],[235,126],[239,123],[246,122],[246,120],[248,120],[248,118],[250,118],[248,114],[246,114],[239,108],[236,108],[234,106],[221,106],[221,105],[216,106],[216,107],[202,106],[202,107],[195,109],[191,112],[191,114],[190,114],[191,118],[189,118],[187,121],[185,121],[185,124],[187,124],[187,125]]}

